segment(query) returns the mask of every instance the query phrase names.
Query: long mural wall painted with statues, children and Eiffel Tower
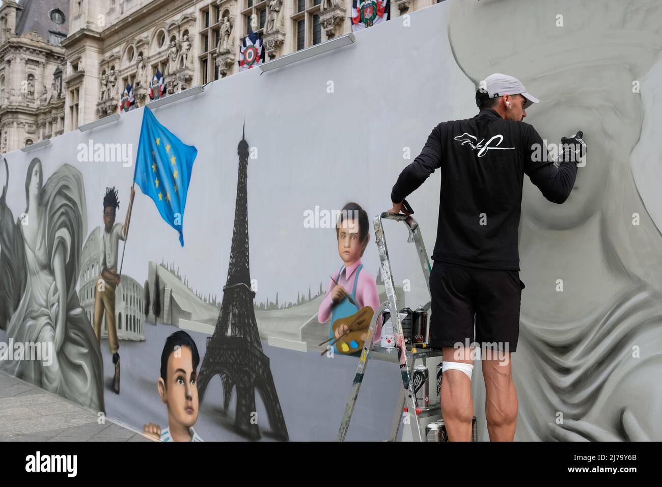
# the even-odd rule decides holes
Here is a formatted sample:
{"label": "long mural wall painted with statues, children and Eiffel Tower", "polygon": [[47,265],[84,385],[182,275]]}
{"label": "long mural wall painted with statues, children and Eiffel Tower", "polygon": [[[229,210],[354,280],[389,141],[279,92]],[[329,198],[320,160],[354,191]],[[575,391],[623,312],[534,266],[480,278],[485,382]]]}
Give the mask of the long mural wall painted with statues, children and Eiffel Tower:
{"label": "long mural wall painted with statues, children and Eiffel Tower", "polygon": [[[478,81],[505,72],[540,98],[526,121],[544,138],[589,143],[564,205],[525,178],[516,439],[662,439],[662,0],[616,4],[448,0],[154,109],[148,142],[140,108],[5,154],[0,341],[54,352],[0,369],[166,440],[335,439],[358,359],[318,345],[354,238],[334,215],[389,209],[432,128],[473,117]],[[428,249],[438,178],[408,197]],[[371,223],[358,227],[360,309],[385,290]],[[399,302],[416,308],[430,299],[418,258],[385,228]],[[371,361],[348,439],[385,439],[401,387],[397,364]]]}

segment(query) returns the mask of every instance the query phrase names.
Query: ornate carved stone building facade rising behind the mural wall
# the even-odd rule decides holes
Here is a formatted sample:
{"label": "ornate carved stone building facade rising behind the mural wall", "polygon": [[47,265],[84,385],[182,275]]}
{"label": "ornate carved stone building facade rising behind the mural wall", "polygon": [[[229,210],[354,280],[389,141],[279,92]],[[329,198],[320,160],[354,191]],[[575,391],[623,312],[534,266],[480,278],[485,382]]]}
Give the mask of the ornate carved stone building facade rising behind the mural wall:
{"label": "ornate carved stone building facade rising behind the mural wall", "polygon": [[[118,113],[127,84],[133,87],[136,105],[144,105],[150,101],[148,83],[157,69],[164,74],[167,93],[235,74],[240,42],[250,30],[263,38],[267,61],[352,31],[352,0],[19,1],[65,3],[61,8],[68,28],[60,46],[42,43],[42,50],[48,45],[52,52],[44,52],[43,69],[38,60],[11,51],[15,115],[7,118],[9,150]],[[438,0],[391,0],[391,21],[434,3]],[[0,18],[6,9],[11,24],[18,9],[9,5],[18,6],[5,1]],[[21,39],[25,50],[36,50],[28,44],[38,40],[29,35]],[[7,49],[3,46],[0,50]],[[34,72],[38,93],[21,99],[18,90],[27,72]],[[56,96],[49,85],[56,87]],[[17,108],[21,103],[31,106],[31,118]],[[5,117],[1,120],[5,123]]]}

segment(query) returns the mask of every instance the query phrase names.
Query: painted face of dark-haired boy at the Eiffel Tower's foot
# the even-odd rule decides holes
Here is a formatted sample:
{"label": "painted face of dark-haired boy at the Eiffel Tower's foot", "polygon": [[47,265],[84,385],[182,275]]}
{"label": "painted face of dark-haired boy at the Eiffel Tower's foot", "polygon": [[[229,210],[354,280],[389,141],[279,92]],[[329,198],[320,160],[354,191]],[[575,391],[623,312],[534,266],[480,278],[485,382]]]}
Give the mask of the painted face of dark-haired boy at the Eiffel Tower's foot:
{"label": "painted face of dark-haired boy at the Eiffel Tower's foot", "polygon": [[177,421],[185,428],[193,427],[198,419],[199,404],[197,373],[189,347],[181,347],[170,354],[166,378],[163,402],[167,405],[169,421]]}

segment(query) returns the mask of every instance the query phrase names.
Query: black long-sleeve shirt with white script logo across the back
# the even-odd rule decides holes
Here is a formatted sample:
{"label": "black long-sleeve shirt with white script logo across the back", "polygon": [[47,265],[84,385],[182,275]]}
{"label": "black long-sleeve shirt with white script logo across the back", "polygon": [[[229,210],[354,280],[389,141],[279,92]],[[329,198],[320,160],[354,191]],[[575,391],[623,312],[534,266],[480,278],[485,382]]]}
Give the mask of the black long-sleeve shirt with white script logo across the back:
{"label": "black long-sleeve shirt with white script logo across the back", "polygon": [[504,120],[493,109],[434,127],[420,155],[402,170],[391,201],[400,203],[437,168],[442,189],[432,259],[508,270],[520,270],[524,174],[559,204],[577,177],[575,162],[553,164],[536,129]]}

